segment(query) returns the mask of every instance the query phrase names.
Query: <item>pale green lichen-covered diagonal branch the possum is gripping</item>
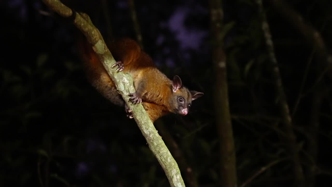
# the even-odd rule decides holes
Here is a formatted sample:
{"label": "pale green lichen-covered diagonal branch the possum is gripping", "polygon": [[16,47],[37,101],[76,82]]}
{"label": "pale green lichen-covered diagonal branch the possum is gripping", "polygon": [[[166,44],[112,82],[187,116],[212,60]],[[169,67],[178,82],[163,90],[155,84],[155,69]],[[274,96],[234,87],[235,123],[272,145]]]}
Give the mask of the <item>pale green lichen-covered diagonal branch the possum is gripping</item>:
{"label": "pale green lichen-covered diagonal branch the possum is gripping", "polygon": [[128,94],[135,92],[131,75],[122,72],[117,73],[116,68],[112,68],[112,65],[115,64],[116,61],[107,48],[99,30],[93,26],[89,16],[84,13],[73,12],[59,0],[43,0],[43,2],[60,16],[73,19],[73,24],[85,35],[92,45],[93,50],[96,52],[99,60],[116,85],[118,92],[122,95],[126,104],[132,109],[134,119],[145,137],[149,148],[164,169],[171,187],[184,187],[185,184],[181,177],[178,164],[161,139],[142,104],[132,104],[129,101],[130,97]]}

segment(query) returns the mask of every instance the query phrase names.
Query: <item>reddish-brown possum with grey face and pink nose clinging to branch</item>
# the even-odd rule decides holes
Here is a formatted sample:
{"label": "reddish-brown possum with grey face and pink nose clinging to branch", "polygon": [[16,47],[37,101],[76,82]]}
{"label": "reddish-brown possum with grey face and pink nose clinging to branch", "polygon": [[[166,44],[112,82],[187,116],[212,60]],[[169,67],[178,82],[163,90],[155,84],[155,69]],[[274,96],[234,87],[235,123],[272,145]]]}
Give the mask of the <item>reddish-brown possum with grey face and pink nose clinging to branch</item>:
{"label": "reddish-brown possum with grey face and pink nose clinging to branch", "polygon": [[[134,40],[121,38],[109,42],[107,46],[117,61],[113,67],[132,75],[136,92],[129,94],[130,101],[142,103],[152,122],[170,112],[187,115],[192,101],[203,96],[201,92],[189,91],[184,87],[179,76],[174,76],[173,80],[167,78]],[[79,49],[92,86],[112,103],[124,107],[127,116],[132,118],[131,109],[118,94],[91,45],[80,43]]]}

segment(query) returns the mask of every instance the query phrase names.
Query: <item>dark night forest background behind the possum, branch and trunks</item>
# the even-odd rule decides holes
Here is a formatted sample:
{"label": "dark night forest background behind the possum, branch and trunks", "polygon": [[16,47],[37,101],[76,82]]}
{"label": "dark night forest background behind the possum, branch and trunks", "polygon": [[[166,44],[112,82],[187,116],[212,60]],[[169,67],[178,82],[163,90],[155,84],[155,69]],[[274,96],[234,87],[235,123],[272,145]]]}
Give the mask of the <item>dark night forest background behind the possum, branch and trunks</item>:
{"label": "dark night forest background behind the possum, branch and trunks", "polygon": [[[263,1],[264,11],[296,136],[293,149],[305,180],[315,181],[306,182],[308,187],[331,186],[332,68],[322,59],[331,57],[332,2],[285,0],[289,9],[284,9],[273,1],[278,0]],[[136,39],[127,0],[62,2],[87,13],[104,38],[112,33]],[[266,167],[246,186],[293,186],[293,163],[255,2],[222,1],[220,34],[237,185]],[[71,22],[38,0],[0,5],[0,186],[169,186],[135,121],[89,85]],[[135,10],[144,51],[169,78],[179,75],[189,89],[205,94],[193,101],[189,115],[167,115],[156,128],[162,125],[160,135],[168,132],[178,144],[199,186],[223,186],[216,130],[223,124],[216,122],[222,116],[215,112],[213,96],[209,1],[135,1]],[[300,15],[309,29],[278,10]],[[310,29],[321,36],[324,53],[310,39]],[[183,178],[186,186],[194,186]]]}

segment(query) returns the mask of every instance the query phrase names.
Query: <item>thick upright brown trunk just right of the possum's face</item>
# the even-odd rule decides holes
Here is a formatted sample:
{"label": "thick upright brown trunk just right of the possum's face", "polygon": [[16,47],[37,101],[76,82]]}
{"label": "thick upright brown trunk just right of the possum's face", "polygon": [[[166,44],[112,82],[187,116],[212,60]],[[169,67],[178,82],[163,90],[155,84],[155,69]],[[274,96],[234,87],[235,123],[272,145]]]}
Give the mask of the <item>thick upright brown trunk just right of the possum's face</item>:
{"label": "thick upright brown trunk just right of the possum's face", "polygon": [[228,103],[226,76],[226,56],[223,50],[222,31],[223,11],[220,0],[210,1],[211,31],[213,41],[213,69],[215,74],[214,111],[219,135],[220,182],[224,187],[236,187],[236,158],[233,129]]}

